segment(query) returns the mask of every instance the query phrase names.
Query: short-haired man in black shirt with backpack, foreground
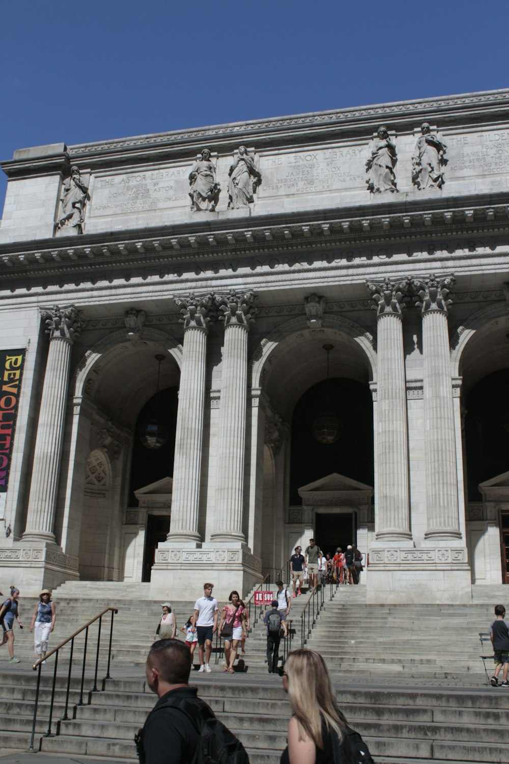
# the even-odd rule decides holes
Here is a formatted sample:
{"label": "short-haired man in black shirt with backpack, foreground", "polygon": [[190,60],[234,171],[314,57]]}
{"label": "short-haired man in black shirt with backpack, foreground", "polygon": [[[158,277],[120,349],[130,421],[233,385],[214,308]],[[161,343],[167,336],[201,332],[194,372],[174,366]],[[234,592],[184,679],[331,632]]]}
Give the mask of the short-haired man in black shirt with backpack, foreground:
{"label": "short-haired man in black shirt with backpack, foreground", "polygon": [[189,687],[191,652],[183,642],[153,643],[145,673],[159,698],[134,740],[140,764],[249,764],[240,740]]}

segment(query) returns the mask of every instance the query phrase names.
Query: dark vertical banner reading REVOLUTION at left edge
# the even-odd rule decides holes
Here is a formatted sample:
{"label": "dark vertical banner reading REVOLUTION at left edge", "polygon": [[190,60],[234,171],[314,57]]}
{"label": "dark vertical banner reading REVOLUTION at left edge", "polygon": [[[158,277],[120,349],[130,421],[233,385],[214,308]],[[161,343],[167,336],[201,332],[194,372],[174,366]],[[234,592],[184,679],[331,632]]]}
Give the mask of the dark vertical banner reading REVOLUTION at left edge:
{"label": "dark vertical banner reading REVOLUTION at left edge", "polygon": [[0,517],[11,468],[14,431],[18,418],[24,350],[0,350]]}

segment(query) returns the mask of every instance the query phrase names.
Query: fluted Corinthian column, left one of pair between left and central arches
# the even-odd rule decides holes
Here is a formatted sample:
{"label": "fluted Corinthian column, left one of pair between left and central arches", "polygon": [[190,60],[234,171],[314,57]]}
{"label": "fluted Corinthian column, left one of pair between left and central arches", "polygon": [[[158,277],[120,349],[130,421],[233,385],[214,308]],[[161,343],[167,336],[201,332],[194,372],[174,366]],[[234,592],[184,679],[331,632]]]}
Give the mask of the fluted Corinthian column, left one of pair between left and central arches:
{"label": "fluted Corinthian column, left one of pair between left and central arches", "polygon": [[180,319],[184,325],[184,349],[179,387],[179,410],[173,467],[172,519],[168,541],[200,542],[198,508],[200,500],[201,446],[205,412],[205,373],[207,369],[207,335],[212,294],[175,300],[182,305]]}

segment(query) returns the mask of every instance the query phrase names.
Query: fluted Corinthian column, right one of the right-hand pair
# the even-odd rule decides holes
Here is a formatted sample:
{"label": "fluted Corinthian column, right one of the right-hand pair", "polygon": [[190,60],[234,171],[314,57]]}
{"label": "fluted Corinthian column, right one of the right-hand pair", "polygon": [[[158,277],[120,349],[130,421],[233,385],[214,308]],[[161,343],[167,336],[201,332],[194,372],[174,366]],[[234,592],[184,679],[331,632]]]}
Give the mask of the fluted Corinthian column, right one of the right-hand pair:
{"label": "fluted Corinthian column, right one of the right-hand pair", "polygon": [[427,531],[425,539],[459,539],[453,385],[447,308],[454,277],[413,280],[421,308],[424,348],[424,422]]}

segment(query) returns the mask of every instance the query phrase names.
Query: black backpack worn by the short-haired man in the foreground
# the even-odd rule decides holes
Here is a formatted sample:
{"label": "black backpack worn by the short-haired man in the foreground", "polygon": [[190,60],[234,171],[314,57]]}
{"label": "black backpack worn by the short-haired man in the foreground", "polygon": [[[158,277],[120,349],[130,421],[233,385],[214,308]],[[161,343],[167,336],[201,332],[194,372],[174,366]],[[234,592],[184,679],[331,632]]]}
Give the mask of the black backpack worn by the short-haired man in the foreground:
{"label": "black backpack worn by the short-haired man in the foreground", "polygon": [[[182,711],[199,733],[201,746],[197,746],[193,764],[250,764],[243,744],[214,716],[204,701],[187,701],[182,698],[172,703],[168,700],[158,706],[157,711],[160,708],[177,708]],[[134,742],[140,764],[143,764],[143,730],[134,737]]]}

